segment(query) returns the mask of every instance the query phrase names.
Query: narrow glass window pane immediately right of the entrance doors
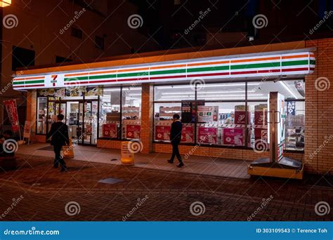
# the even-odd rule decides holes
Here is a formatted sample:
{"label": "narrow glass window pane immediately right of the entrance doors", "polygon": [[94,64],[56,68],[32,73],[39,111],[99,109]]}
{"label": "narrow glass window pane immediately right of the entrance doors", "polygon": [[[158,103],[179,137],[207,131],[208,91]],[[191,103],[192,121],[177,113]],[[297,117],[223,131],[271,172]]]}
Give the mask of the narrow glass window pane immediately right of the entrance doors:
{"label": "narrow glass window pane immediately right of the entrance doors", "polygon": [[120,138],[120,101],[120,88],[104,89],[100,96],[100,138]]}

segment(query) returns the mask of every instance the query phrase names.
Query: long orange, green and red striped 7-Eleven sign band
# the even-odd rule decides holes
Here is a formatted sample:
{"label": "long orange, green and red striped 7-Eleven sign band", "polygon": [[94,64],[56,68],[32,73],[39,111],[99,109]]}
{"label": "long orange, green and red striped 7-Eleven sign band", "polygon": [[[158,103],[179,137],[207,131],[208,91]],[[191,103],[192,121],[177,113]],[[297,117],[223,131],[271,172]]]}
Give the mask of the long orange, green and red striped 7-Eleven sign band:
{"label": "long orange, green and red striped 7-Eleven sign band", "polygon": [[[209,59],[209,58],[207,58]],[[67,72],[59,74],[55,84],[56,72],[52,73],[51,82],[45,83],[45,76],[20,76],[13,79],[15,89],[51,88],[63,86],[96,86],[110,84],[126,84],[136,82],[177,81],[200,79],[226,79],[244,77],[263,77],[280,75],[306,75],[315,69],[313,53],[287,53],[278,55],[262,55],[247,58],[223,58],[221,60],[192,60],[188,62],[143,66],[131,68],[93,70],[86,72]]]}

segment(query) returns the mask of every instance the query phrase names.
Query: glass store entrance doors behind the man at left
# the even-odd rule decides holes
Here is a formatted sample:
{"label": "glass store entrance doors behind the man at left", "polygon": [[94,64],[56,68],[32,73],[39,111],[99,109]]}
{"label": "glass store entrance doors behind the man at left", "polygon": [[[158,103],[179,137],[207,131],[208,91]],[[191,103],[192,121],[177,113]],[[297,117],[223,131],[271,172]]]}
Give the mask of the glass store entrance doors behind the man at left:
{"label": "glass store entrance doors behind the man at left", "polygon": [[97,145],[98,100],[55,100],[48,102],[48,131],[56,115],[65,116],[69,136],[79,145]]}

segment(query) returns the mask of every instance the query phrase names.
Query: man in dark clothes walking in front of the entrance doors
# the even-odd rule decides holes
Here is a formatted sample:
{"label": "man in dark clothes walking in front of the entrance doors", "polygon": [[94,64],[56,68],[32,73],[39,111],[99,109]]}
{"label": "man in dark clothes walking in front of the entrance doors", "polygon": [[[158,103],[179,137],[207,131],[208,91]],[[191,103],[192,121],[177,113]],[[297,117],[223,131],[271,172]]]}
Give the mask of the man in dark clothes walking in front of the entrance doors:
{"label": "man in dark clothes walking in front of the entrance doors", "polygon": [[67,171],[67,167],[60,152],[64,145],[70,144],[70,140],[68,138],[68,127],[63,123],[63,119],[64,115],[58,114],[57,121],[52,124],[51,130],[48,133],[49,138],[51,138],[51,145],[53,145],[53,151],[55,153],[53,168],[58,168],[60,164],[61,172]]}

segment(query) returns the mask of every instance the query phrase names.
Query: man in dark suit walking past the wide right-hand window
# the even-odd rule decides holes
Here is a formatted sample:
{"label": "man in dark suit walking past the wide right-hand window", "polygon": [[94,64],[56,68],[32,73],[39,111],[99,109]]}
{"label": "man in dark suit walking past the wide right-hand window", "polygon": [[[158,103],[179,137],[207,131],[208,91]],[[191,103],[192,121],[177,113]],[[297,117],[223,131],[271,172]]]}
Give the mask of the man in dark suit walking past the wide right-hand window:
{"label": "man in dark suit walking past the wide right-hand window", "polygon": [[171,131],[170,131],[170,140],[172,144],[172,155],[171,159],[168,160],[169,164],[174,163],[174,158],[177,156],[179,164],[177,165],[178,168],[184,166],[183,160],[181,159],[181,154],[179,153],[178,145],[181,143],[181,121],[179,120],[181,117],[178,114],[174,114],[174,122],[171,124]]}

